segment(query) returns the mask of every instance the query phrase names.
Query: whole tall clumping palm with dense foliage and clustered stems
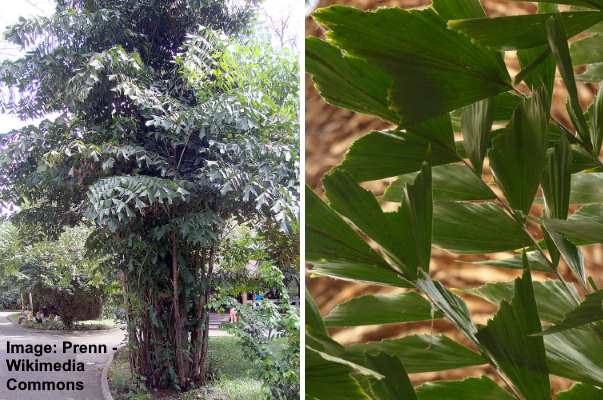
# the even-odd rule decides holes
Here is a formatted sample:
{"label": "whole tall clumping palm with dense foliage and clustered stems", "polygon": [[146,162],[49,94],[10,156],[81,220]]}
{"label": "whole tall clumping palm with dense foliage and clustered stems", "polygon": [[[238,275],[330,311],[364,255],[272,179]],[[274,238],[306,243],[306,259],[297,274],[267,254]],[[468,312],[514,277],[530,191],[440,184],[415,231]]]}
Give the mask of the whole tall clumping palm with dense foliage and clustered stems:
{"label": "whole tall clumping palm with dense foliage and clustered stems", "polygon": [[[7,37],[5,111],[54,120],[2,137],[0,200],[56,235],[84,221],[118,268],[131,366],[203,384],[224,222],[297,215],[297,66],[223,1],[59,1]],[[264,50],[262,50],[264,49]]]}

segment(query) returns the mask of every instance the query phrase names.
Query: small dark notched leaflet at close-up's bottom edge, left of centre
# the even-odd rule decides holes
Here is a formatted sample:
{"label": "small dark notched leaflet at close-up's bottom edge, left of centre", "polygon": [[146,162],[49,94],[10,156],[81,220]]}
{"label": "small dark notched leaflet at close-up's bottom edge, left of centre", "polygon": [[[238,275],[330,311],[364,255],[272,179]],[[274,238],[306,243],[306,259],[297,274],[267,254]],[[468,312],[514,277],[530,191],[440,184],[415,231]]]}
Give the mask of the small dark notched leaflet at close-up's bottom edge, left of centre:
{"label": "small dark notched leaflet at close-up's bottom edge, left of centre", "polygon": [[396,357],[385,353],[366,355],[369,368],[384,376],[383,379],[371,381],[371,391],[379,400],[417,400],[410,379]]}

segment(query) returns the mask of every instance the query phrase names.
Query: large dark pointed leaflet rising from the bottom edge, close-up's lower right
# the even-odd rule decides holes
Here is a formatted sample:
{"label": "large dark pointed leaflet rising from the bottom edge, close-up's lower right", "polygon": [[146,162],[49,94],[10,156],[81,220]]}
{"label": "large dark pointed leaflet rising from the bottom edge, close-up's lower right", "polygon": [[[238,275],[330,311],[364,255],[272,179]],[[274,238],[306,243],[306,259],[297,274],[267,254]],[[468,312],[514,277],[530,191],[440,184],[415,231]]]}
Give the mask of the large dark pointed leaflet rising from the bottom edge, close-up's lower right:
{"label": "large dark pointed leaflet rising from the bottom edge, close-up's lower right", "polygon": [[529,336],[542,328],[527,259],[524,263],[526,270],[515,280],[513,300],[501,303],[494,318],[478,330],[477,338],[527,399],[550,400],[544,341]]}

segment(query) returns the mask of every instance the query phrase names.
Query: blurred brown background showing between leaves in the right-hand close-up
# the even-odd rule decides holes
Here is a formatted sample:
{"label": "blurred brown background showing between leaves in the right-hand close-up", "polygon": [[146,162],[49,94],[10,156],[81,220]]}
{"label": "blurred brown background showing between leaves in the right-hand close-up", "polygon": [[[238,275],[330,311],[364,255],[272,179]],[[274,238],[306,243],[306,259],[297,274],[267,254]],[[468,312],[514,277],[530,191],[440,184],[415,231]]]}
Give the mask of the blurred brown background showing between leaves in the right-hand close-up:
{"label": "blurred brown background showing between leaves in the right-hand close-up", "polygon": [[[362,9],[374,9],[383,6],[399,6],[404,8],[429,6],[430,0],[402,0],[402,1],[379,1],[379,0],[340,0],[320,1],[318,7],[331,4],[349,4]],[[536,6],[532,3],[511,2],[507,0],[482,0],[482,5],[489,16],[520,15],[534,13]],[[306,18],[306,35],[321,36],[321,28],[311,19]],[[511,76],[519,72],[519,63],[512,52],[507,52],[505,61],[509,67]],[[374,129],[387,128],[383,121],[351,111],[338,109],[326,104],[318,95],[312,80],[306,76],[306,183],[317,193],[322,192],[321,178],[333,166],[339,164],[350,144],[358,137]],[[521,90],[521,88],[520,88]],[[578,94],[584,109],[588,106],[596,93],[592,85],[579,83]],[[553,101],[553,114],[566,126],[571,126],[565,111],[567,93],[559,76],[555,82],[555,93]],[[383,192],[386,184],[383,182],[363,185],[379,195]],[[584,249],[586,267],[598,285],[603,284],[600,272],[603,271],[603,248],[600,245],[589,246]],[[500,258],[508,256],[504,254],[489,255],[489,257]],[[458,256],[445,251],[434,249],[432,253],[431,274],[435,279],[443,281],[448,287],[475,287],[485,282],[509,281],[518,276],[516,271],[496,268],[492,266],[480,266],[469,264],[468,261],[484,259],[483,256]],[[328,278],[312,278],[309,273],[311,265],[306,270],[307,287],[313,294],[321,312],[328,313],[335,305],[342,303],[352,297],[368,293],[394,292],[395,289],[379,286],[353,284],[340,280]],[[565,266],[561,270],[568,280],[571,275]],[[545,275],[539,275],[536,279],[545,279]],[[474,320],[485,323],[495,308],[475,297],[465,296]],[[412,323],[385,326],[367,326],[350,329],[333,330],[333,337],[341,343],[358,343],[384,338],[394,338],[414,333],[442,333],[459,341],[464,338],[456,332],[452,324],[446,321],[431,323]],[[466,376],[483,374],[487,368],[458,369],[444,373],[413,374],[411,377],[415,383],[427,379],[455,379]],[[490,375],[494,377],[493,375]],[[568,386],[568,382],[562,379],[554,379],[553,385],[556,389]]]}

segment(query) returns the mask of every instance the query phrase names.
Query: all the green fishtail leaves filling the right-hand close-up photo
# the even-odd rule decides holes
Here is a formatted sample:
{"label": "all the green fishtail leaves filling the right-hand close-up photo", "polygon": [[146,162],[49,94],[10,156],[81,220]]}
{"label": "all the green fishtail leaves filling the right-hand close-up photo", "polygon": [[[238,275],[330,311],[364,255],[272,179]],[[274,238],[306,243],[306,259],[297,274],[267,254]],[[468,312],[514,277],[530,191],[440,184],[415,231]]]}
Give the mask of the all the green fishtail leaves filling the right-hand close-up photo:
{"label": "all the green fishtail leaves filling the right-hand close-up photo", "polygon": [[[328,202],[306,190],[306,259],[313,275],[402,290],[353,298],[324,318],[306,296],[307,398],[603,398],[603,290],[581,250],[603,242],[603,93],[583,109],[576,86],[602,76],[603,1],[557,2],[563,12],[543,0],[536,14],[500,18],[478,0],[314,13],[326,40],[307,39],[306,67],[322,97],[393,129],[351,146],[324,178]],[[507,51],[521,65],[513,78]],[[571,125],[550,112],[556,70]],[[359,184],[386,178],[382,198]],[[522,275],[452,290],[429,274],[432,246],[513,252],[482,263]],[[476,324],[460,295],[498,311]],[[343,346],[327,331],[439,318],[466,340]],[[413,387],[408,376],[483,365],[484,376],[459,381]],[[553,393],[551,376],[575,384]]]}

